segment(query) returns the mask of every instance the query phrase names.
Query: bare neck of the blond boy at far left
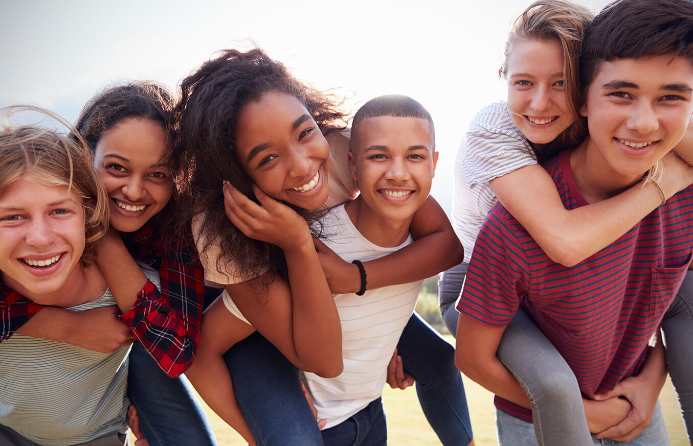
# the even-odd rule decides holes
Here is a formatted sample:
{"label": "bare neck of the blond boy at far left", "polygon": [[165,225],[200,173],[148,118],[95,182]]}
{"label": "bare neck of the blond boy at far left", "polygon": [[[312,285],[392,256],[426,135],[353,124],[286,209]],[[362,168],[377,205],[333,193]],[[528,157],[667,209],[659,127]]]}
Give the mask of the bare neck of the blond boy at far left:
{"label": "bare neck of the blond boy at far left", "polygon": [[76,265],[59,289],[49,293],[35,293],[16,280],[2,274],[8,288],[41,305],[69,308],[96,300],[106,291],[106,281],[100,269],[94,264],[88,267]]}

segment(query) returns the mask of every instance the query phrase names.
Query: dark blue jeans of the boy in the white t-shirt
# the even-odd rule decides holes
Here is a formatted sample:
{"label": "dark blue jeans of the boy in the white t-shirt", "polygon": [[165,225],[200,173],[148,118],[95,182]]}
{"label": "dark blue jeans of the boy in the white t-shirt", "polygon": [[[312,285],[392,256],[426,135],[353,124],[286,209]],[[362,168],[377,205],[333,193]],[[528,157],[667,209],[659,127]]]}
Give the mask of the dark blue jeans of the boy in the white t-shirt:
{"label": "dark blue jeans of the boy in the white t-shirt", "polygon": [[378,398],[340,424],[324,429],[326,446],[385,446],[387,425],[383,402]]}

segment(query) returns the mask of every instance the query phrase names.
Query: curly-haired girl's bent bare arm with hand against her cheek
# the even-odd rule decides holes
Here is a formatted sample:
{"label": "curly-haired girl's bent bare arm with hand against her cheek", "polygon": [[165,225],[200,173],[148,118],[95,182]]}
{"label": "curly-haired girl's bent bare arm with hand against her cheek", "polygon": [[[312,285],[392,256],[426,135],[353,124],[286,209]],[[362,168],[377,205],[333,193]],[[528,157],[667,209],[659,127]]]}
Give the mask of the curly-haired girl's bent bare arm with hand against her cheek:
{"label": "curly-haired girl's bent bare arm with hand against her cheek", "polygon": [[226,289],[253,327],[297,368],[337,376],[343,368],[342,325],[308,224],[256,186],[254,191],[262,206],[225,186],[227,215],[248,237],[283,250],[289,281],[267,272]]}

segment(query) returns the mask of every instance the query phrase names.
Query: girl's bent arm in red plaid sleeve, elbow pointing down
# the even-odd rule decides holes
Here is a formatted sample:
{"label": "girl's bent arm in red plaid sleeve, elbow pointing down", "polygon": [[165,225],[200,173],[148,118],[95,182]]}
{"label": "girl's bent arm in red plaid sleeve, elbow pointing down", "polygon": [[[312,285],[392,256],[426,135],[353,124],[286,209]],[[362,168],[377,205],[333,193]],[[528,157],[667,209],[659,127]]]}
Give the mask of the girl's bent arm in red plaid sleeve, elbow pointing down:
{"label": "girl's bent arm in red plaid sleeve, elbow pointing down", "polygon": [[[137,247],[143,251],[155,251],[152,243],[140,244]],[[176,377],[195,358],[204,273],[191,234],[177,238],[171,250],[170,255],[161,256],[161,292],[144,276],[117,231],[109,231],[101,241],[96,262],[116,298],[121,321],[159,367]]]}

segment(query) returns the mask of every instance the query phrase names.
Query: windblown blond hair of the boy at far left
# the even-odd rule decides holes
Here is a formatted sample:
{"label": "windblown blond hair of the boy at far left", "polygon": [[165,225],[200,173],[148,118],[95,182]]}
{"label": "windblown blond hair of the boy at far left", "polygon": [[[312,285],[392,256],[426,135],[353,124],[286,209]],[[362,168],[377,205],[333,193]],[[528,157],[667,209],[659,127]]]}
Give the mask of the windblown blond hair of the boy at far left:
{"label": "windblown blond hair of the boy at far left", "polygon": [[[69,130],[69,123],[38,107],[14,106],[0,110],[9,117],[18,111],[33,111],[55,119]],[[85,250],[82,266],[91,265],[96,247],[108,229],[108,197],[91,166],[91,156],[83,139],[76,141],[46,127],[3,124],[0,131],[0,194],[24,174],[35,175],[47,187],[67,186],[82,200],[85,211]]]}

